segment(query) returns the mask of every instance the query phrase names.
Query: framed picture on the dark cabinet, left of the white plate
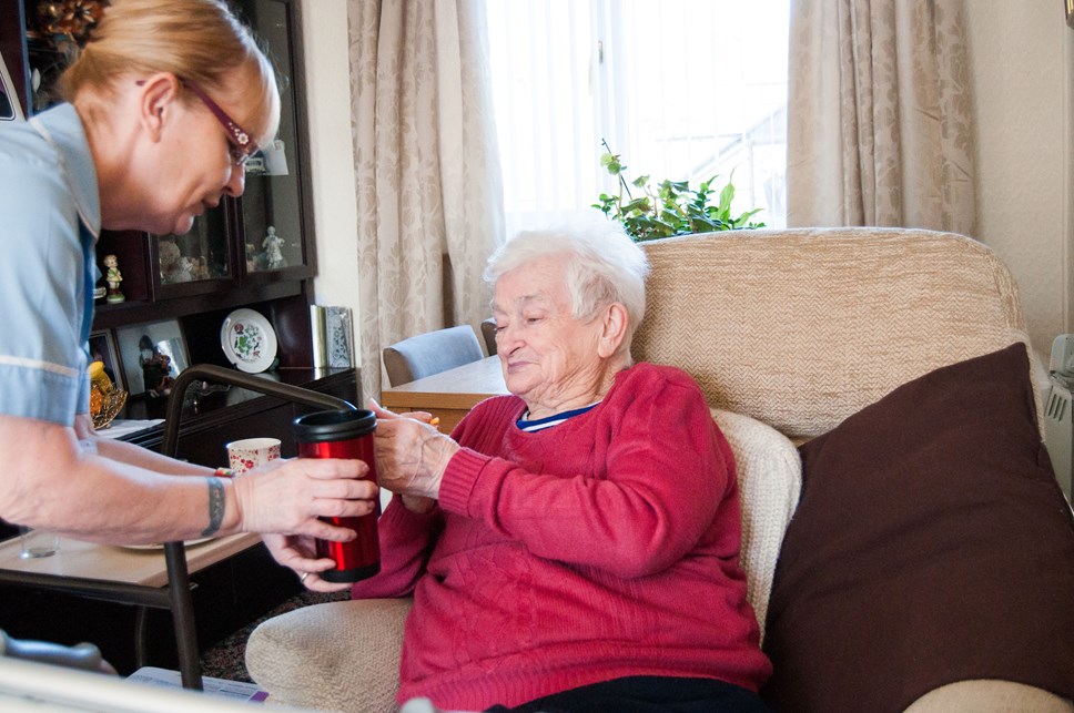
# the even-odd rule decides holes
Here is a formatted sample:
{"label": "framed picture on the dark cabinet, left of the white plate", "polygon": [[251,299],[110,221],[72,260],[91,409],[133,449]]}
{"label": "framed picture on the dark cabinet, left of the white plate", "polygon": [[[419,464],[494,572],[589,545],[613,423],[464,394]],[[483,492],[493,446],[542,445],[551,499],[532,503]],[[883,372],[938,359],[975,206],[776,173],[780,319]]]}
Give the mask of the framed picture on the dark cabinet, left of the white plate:
{"label": "framed picture on the dark cabinet, left of the white plate", "polygon": [[[120,327],[115,330],[115,337],[120,347],[123,376],[128,385],[126,390],[131,396],[142,394],[154,397],[166,395],[168,384],[163,380],[149,385],[145,383],[145,374],[154,373],[153,365],[160,363],[161,355],[168,357],[166,376],[172,380],[190,366],[186,338],[178,319],[163,319]],[[149,363],[149,369],[146,363]]]}

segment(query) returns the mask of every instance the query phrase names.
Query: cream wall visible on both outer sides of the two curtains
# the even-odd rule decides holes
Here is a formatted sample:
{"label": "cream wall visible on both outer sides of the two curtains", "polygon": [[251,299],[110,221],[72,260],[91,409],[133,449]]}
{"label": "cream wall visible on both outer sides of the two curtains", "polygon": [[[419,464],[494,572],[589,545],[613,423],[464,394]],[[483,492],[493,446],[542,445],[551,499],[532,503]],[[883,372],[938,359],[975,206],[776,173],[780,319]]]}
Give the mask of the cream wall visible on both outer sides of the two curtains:
{"label": "cream wall visible on both outer sides of the two curtains", "polygon": [[[313,154],[317,301],[357,310],[347,0],[300,0]],[[966,0],[977,115],[977,237],[1019,283],[1042,359],[1074,332],[1074,30],[1060,0]],[[357,312],[355,312],[357,317]]]}

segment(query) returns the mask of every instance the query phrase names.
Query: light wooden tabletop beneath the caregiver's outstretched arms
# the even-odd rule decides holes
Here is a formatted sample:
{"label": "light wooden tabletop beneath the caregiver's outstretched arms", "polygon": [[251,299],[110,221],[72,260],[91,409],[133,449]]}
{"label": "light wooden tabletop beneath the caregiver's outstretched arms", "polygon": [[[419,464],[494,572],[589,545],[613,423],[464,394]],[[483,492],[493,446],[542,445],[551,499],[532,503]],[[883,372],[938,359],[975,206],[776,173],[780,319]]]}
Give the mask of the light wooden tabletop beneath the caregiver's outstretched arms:
{"label": "light wooden tabletop beneath the caregiver's outstretched arms", "polygon": [[[257,534],[244,532],[186,546],[186,567],[196,572],[257,544]],[[165,587],[168,569],[164,549],[134,549],[95,544],[60,538],[60,550],[51,557],[22,559],[18,537],[0,542],[0,570],[14,570],[55,577],[74,577],[124,582],[143,587]]]}

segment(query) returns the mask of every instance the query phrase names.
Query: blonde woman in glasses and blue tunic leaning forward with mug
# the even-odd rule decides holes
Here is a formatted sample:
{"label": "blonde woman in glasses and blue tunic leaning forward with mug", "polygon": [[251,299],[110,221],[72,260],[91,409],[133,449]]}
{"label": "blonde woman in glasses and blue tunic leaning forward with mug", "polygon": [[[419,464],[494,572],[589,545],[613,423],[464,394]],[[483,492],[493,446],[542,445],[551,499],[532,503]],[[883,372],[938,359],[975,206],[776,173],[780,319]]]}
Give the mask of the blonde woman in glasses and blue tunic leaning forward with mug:
{"label": "blonde woman in glasses and blue tunic leaning forward with mug", "polygon": [[[0,215],[18,256],[0,262],[0,517],[113,543],[354,538],[318,516],[373,510],[359,461],[231,480],[98,438],[89,416],[97,237],[185,233],[243,192],[243,164],[280,121],[267,58],[223,0],[113,0],[61,82],[67,103],[0,131]],[[271,547],[302,571],[334,566]]]}

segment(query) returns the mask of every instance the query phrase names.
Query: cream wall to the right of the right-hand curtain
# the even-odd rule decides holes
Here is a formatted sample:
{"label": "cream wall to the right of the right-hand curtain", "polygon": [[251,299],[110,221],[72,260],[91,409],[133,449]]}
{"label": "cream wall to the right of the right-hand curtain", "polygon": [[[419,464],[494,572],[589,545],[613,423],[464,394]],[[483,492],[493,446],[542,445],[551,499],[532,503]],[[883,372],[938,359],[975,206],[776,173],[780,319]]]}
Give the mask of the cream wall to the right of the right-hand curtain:
{"label": "cream wall to the right of the right-hand curtain", "polygon": [[1072,329],[1071,48],[1061,0],[966,0],[977,234],[1019,283],[1042,359]]}

